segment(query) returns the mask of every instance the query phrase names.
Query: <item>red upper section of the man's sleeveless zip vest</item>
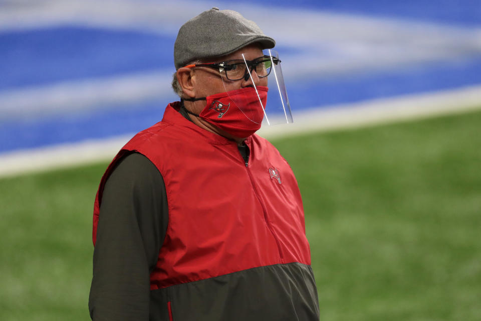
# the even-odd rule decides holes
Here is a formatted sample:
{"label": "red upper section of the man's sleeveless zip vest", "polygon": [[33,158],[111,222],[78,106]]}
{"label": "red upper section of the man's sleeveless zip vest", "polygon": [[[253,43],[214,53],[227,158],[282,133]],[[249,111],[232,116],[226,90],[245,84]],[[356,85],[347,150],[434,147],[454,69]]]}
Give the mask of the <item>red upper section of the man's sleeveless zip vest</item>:
{"label": "red upper section of the man's sleeveless zip vest", "polygon": [[94,245],[105,182],[118,159],[137,151],[161,173],[169,209],[151,289],[272,264],[310,265],[301,195],[279,151],[252,135],[246,165],[235,142],[198,127],[176,108],[168,105],[161,122],[135,135],[102,177]]}

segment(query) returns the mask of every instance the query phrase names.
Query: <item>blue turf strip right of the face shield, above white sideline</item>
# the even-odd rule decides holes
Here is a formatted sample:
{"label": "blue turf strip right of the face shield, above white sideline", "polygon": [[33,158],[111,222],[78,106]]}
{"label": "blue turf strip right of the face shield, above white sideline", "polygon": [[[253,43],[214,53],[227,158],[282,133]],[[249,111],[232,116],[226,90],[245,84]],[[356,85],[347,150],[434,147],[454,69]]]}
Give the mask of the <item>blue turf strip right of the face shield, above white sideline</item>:
{"label": "blue turf strip right of the face shield, above white sideline", "polygon": [[[293,111],[481,83],[481,57],[475,60],[423,64],[404,69],[349,74],[342,77],[286,80]],[[315,93],[315,94],[313,94]],[[294,112],[293,112],[294,113]],[[295,113],[294,113],[295,117]]]}

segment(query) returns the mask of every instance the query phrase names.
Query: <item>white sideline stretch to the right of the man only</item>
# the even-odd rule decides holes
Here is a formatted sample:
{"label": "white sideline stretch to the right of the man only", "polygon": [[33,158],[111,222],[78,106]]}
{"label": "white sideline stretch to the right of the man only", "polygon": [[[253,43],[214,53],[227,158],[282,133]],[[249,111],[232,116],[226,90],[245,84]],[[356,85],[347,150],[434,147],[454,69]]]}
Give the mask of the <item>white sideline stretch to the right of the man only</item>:
{"label": "white sideline stretch to the right of the man only", "polygon": [[302,113],[296,112],[291,125],[263,126],[258,134],[267,138],[283,137],[461,113],[480,108],[481,85],[477,85],[309,109]]}

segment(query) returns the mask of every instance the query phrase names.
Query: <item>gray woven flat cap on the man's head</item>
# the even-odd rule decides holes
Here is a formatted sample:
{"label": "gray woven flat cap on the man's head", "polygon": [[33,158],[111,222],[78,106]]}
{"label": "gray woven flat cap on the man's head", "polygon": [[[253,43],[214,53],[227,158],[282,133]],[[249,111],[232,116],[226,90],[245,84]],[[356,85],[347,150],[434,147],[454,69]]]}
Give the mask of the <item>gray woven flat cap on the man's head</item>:
{"label": "gray woven flat cap on the man's head", "polygon": [[196,59],[228,55],[253,43],[262,49],[276,45],[255,22],[238,12],[212,8],[180,27],[174,45],[175,69]]}

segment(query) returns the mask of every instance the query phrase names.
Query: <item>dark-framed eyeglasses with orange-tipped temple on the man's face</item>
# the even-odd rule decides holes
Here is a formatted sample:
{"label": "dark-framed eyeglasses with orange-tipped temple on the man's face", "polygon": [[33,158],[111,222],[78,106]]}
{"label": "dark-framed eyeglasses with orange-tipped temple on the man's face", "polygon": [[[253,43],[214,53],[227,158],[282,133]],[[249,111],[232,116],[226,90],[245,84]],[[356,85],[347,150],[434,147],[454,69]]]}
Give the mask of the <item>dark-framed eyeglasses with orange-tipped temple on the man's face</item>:
{"label": "dark-framed eyeglasses with orange-tipped temple on the man's face", "polygon": [[[263,56],[255,60],[228,60],[219,63],[187,65],[186,68],[209,67],[217,69],[221,74],[225,74],[228,80],[249,79],[249,74],[256,70],[258,77],[267,77],[271,73],[272,64],[277,65],[281,62],[279,58]],[[247,65],[246,65],[247,63]],[[249,69],[248,69],[249,67]]]}

